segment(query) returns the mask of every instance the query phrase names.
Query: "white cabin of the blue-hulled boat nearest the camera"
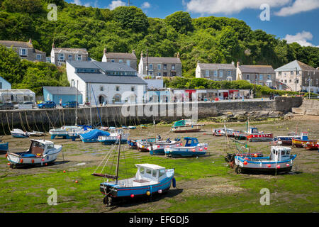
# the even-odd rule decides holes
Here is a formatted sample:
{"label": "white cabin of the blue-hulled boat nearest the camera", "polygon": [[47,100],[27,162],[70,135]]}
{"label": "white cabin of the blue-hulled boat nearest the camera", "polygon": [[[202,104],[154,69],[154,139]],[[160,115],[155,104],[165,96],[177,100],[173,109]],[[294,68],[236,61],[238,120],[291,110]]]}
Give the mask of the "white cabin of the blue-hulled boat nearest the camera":
{"label": "white cabin of the blue-hulled boat nearest the camera", "polygon": [[166,177],[165,167],[152,164],[137,164],[138,172],[136,172],[134,182],[159,182]]}

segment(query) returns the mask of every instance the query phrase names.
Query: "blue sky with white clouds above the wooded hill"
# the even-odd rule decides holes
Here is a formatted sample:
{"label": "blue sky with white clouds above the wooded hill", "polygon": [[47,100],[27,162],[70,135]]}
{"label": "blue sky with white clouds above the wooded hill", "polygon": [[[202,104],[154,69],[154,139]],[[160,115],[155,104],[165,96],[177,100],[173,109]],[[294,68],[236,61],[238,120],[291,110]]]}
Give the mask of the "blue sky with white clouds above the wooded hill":
{"label": "blue sky with white clouds above the wooded hill", "polygon": [[[113,9],[127,5],[128,0],[67,0],[83,6]],[[259,15],[262,4],[269,6],[269,21]],[[201,16],[226,16],[238,18],[252,30],[285,38],[289,43],[319,47],[319,0],[130,0],[149,17],[165,18],[176,11],[188,11],[192,18]]]}

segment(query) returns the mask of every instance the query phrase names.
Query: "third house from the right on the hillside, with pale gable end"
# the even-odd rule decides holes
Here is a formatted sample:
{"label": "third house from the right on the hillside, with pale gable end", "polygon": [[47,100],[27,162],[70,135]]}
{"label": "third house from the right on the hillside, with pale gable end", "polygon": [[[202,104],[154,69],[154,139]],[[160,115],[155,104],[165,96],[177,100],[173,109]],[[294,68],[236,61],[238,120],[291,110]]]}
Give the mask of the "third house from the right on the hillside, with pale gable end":
{"label": "third house from the right on the hillside, with pale gable end", "polygon": [[206,78],[215,81],[236,80],[235,63],[232,64],[207,64],[197,63],[196,78]]}

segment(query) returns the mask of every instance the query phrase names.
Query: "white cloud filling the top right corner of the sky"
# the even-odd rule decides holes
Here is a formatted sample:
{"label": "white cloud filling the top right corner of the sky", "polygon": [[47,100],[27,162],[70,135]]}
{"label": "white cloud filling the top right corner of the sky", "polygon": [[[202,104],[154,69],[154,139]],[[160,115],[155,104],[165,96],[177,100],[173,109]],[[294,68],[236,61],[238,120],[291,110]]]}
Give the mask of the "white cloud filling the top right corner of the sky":
{"label": "white cloud filling the top right corner of the sky", "polygon": [[310,11],[319,8],[318,0],[296,0],[292,6],[281,8],[280,11],[274,13],[276,16],[290,16],[296,13]]}

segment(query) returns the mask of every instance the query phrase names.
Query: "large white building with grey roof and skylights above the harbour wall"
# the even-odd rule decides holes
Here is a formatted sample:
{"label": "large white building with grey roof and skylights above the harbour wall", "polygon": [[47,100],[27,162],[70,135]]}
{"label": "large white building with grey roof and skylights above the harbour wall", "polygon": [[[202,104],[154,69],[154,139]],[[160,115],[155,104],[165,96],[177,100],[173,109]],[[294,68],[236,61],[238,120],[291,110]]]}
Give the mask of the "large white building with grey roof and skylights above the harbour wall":
{"label": "large white building with grey roof and skylights above the harbour wall", "polygon": [[141,102],[147,91],[138,72],[124,63],[67,61],[67,79],[93,105]]}

